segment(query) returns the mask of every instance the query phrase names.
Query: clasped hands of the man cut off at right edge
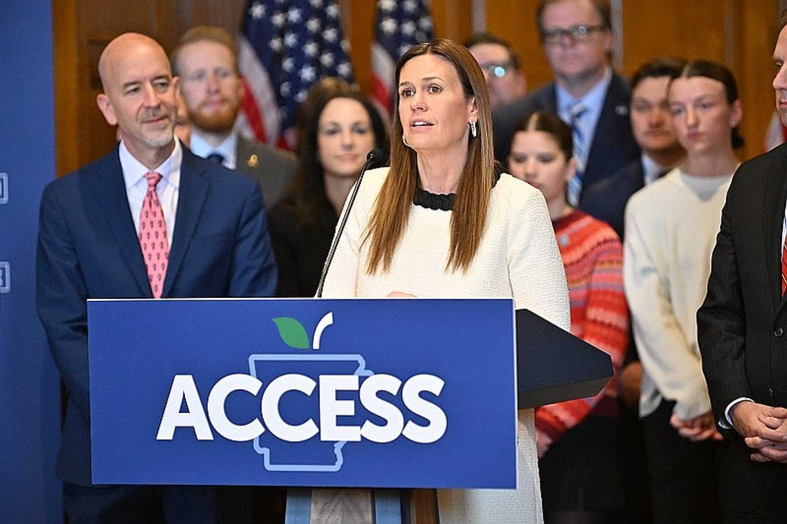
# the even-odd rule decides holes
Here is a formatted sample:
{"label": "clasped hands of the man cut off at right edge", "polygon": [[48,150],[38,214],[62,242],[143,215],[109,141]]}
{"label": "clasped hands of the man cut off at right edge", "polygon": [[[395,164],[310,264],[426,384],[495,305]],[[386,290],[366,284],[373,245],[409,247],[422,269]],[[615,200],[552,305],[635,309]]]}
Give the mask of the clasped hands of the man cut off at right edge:
{"label": "clasped hands of the man cut off at right edge", "polygon": [[787,463],[787,409],[745,400],[730,410],[733,426],[749,448],[755,462]]}

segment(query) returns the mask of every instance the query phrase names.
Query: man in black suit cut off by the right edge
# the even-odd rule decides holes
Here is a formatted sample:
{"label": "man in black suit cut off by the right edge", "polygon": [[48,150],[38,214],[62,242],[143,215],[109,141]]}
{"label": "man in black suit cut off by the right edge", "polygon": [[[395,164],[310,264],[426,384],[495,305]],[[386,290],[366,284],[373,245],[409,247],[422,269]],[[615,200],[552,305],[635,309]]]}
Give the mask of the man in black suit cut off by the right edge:
{"label": "man in black suit cut off by the right edge", "polygon": [[[776,105],[787,123],[787,29],[774,51]],[[784,522],[787,496],[787,145],[733,176],[697,334],[711,408],[725,522]]]}

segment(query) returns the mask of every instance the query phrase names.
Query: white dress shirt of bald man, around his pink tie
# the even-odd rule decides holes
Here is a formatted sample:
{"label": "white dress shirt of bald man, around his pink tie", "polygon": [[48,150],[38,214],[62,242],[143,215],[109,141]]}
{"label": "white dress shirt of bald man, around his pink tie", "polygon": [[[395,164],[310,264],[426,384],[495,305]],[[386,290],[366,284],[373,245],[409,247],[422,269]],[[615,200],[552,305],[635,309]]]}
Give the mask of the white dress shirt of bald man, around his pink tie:
{"label": "white dress shirt of bald man, around his pink tie", "polygon": [[175,141],[175,149],[167,160],[155,169],[146,168],[128,150],[126,144],[120,141],[120,167],[123,169],[123,179],[126,183],[128,207],[131,209],[131,218],[134,219],[134,229],[139,236],[139,214],[142,212],[142,201],[147,194],[146,173],[154,171],[161,175],[161,180],[156,186],[156,196],[164,211],[164,221],[167,223],[167,243],[172,247],[172,233],[175,231],[175,218],[178,210],[178,194],[180,186],[180,164],[183,162],[183,149],[180,142]]}

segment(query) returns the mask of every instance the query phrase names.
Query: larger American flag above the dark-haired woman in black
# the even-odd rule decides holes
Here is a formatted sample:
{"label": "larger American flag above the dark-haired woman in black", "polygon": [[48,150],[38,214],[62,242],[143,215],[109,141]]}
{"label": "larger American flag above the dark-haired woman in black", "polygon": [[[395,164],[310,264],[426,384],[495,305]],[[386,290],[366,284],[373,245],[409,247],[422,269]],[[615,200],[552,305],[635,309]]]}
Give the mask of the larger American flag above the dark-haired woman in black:
{"label": "larger American flag above the dark-haired woman in black", "polygon": [[238,39],[244,83],[241,135],[295,145],[297,108],[323,76],[353,83],[335,0],[249,0]]}

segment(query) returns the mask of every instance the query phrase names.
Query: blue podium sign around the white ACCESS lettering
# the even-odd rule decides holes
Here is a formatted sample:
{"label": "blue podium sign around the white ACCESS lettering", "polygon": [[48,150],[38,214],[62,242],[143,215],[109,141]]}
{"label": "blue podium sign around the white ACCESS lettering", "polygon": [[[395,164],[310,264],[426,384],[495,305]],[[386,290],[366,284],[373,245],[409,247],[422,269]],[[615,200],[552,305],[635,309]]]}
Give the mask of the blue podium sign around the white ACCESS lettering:
{"label": "blue podium sign around the white ACCESS lettering", "polygon": [[[333,323],[312,349],[329,312]],[[90,301],[88,324],[94,482],[515,487],[510,299]],[[267,430],[257,438],[228,440],[210,415],[209,393],[233,374],[262,382],[256,394],[236,391],[224,403],[235,424],[260,419]],[[378,397],[419,426],[428,419],[403,400],[404,384],[434,375],[445,381],[442,391],[420,397],[445,413],[445,433],[427,443],[407,435],[387,443],[324,439],[316,386],[309,395],[281,397],[287,423],[312,419],[320,428],[308,440],[287,442],[260,415],[265,388],[287,374],[320,385],[325,375],[359,375],[361,385],[393,375],[402,386]],[[198,440],[191,427],[157,440],[175,375],[193,377],[212,440]],[[358,391],[337,398],[354,410],[338,416],[339,426],[385,423]],[[185,400],[173,405],[195,411]]]}

